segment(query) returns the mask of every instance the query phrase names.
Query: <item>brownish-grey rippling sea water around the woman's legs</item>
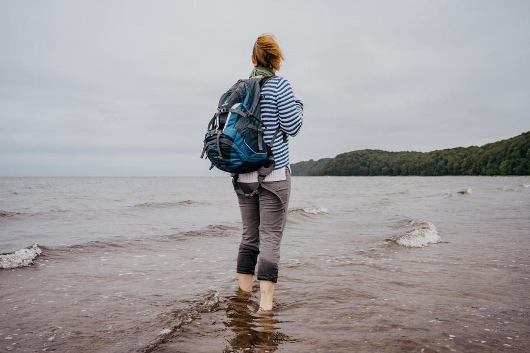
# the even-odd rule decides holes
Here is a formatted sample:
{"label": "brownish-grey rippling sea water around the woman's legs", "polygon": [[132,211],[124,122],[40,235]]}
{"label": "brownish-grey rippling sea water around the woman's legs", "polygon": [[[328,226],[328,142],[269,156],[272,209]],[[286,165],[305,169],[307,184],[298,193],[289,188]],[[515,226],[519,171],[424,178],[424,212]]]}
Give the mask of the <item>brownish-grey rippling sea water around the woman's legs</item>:
{"label": "brownish-grey rippling sea water around the woman's legs", "polygon": [[228,178],[0,178],[0,349],[528,351],[529,187],[294,177],[260,316]]}

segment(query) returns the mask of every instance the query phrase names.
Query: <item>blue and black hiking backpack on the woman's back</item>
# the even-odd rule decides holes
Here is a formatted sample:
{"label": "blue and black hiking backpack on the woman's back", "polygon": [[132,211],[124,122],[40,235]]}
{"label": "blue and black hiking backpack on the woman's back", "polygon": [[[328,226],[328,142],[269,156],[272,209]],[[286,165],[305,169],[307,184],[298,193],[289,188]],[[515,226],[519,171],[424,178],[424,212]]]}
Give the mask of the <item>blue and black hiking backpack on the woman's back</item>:
{"label": "blue and black hiking backpack on the woman's back", "polygon": [[201,158],[206,155],[210,160],[210,169],[215,166],[232,174],[258,171],[263,177],[274,169],[272,144],[280,127],[266,145],[263,133],[267,127],[260,112],[261,88],[273,77],[239,80],[221,96],[217,112],[208,123],[201,154]]}

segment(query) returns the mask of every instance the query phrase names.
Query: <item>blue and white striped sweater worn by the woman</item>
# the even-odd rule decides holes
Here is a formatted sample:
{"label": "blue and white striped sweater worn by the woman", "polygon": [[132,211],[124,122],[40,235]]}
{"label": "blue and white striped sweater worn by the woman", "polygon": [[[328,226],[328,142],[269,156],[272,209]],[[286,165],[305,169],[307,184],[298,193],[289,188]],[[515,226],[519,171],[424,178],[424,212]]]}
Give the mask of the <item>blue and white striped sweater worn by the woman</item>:
{"label": "blue and white striped sweater worn by the woman", "polygon": [[[264,181],[285,180],[285,168],[289,166],[289,138],[284,143],[281,131],[288,136],[296,136],[302,127],[304,104],[294,94],[289,81],[283,77],[274,77],[267,81],[261,89],[261,121],[267,126],[264,133],[265,143],[272,140],[278,124],[280,133],[272,145],[272,154],[276,162],[273,170]],[[242,173],[237,177],[241,183],[258,182],[258,172]]]}

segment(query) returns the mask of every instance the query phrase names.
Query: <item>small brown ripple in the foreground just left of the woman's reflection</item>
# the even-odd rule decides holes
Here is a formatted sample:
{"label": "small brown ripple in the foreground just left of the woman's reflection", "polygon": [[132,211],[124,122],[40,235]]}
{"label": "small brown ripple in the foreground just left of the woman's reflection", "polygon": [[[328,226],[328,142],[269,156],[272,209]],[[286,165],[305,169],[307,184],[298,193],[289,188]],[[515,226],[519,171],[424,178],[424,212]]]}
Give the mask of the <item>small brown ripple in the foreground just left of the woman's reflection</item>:
{"label": "small brown ripple in the foreground just left of the woman's reflection", "polygon": [[[213,308],[217,306],[219,303],[219,293],[215,291],[210,291],[210,293],[206,296],[205,299],[201,299],[199,302],[194,303],[190,305],[188,308],[186,308],[185,311],[182,311],[180,313],[174,313],[170,312],[169,317],[177,316],[177,320],[173,321],[168,326],[164,326],[164,328],[158,333],[158,336],[153,339],[148,345],[140,349],[140,352],[143,353],[149,353],[154,350],[156,350],[160,345],[162,345],[164,342],[166,342],[168,339],[171,338],[171,335],[179,330],[182,325],[189,324],[193,320],[195,320],[201,313],[206,313],[211,311]],[[167,313],[163,314],[164,316],[168,316]],[[165,320],[164,320],[165,321]],[[166,323],[167,324],[167,323]]]}

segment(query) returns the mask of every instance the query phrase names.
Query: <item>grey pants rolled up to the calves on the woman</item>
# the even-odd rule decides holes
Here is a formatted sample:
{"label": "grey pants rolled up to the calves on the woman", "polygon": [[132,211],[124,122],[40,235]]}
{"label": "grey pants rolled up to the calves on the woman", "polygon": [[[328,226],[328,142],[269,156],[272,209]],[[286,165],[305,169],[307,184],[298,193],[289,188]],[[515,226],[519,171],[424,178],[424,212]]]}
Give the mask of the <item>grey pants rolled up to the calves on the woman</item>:
{"label": "grey pants rolled up to the calves on the woman", "polygon": [[[275,283],[278,280],[280,242],[284,234],[291,193],[290,171],[288,168],[285,170],[286,180],[264,182],[275,190],[282,200],[261,188],[253,197],[238,196],[243,237],[237,254],[237,273],[254,275],[259,254],[258,279]],[[258,187],[258,183],[239,184],[245,193],[250,193]]]}

